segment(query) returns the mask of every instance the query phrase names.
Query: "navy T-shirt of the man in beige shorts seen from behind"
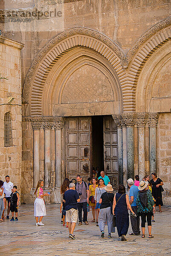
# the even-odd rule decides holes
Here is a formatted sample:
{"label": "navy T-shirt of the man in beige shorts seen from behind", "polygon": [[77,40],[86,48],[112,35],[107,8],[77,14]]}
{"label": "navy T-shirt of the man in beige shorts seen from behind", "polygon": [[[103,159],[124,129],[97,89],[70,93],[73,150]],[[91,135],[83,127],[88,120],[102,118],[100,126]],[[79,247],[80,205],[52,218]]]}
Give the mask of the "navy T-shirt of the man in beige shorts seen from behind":
{"label": "navy T-shirt of the man in beige shorts seen from behind", "polygon": [[77,199],[79,199],[78,192],[75,189],[68,189],[64,193],[65,209],[69,211],[70,209],[77,210]]}

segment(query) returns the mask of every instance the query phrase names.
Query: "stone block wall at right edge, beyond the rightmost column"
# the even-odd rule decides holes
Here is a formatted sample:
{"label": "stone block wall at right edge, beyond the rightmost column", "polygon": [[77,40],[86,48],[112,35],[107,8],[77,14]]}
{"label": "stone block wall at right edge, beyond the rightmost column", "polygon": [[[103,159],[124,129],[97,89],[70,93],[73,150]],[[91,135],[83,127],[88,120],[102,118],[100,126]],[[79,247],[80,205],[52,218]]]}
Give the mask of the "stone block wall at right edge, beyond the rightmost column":
{"label": "stone block wall at right edge, beyond the rightmost column", "polygon": [[157,174],[163,180],[164,204],[171,205],[171,113],[160,113]]}

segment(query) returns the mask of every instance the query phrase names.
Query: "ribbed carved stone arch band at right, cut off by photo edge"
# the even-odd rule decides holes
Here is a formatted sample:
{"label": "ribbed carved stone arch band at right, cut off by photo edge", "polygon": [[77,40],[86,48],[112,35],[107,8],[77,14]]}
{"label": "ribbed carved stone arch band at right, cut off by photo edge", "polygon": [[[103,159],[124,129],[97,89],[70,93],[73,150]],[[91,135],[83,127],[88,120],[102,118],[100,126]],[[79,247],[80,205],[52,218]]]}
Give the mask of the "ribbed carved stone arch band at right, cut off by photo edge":
{"label": "ribbed carved stone arch band at right, cut off by photo edge", "polygon": [[139,75],[148,58],[171,40],[171,17],[157,23],[142,35],[131,47],[126,57],[129,65],[127,76],[122,81],[123,109],[136,110],[136,86]]}

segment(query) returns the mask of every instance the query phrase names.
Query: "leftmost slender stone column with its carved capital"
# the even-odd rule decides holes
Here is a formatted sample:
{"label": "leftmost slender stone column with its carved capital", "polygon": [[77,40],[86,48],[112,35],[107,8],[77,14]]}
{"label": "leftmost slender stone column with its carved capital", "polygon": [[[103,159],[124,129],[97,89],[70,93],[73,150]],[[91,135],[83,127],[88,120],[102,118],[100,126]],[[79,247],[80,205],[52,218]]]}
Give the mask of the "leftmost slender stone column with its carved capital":
{"label": "leftmost slender stone column with its carved capital", "polygon": [[40,179],[40,128],[41,122],[31,122],[33,128],[33,188]]}

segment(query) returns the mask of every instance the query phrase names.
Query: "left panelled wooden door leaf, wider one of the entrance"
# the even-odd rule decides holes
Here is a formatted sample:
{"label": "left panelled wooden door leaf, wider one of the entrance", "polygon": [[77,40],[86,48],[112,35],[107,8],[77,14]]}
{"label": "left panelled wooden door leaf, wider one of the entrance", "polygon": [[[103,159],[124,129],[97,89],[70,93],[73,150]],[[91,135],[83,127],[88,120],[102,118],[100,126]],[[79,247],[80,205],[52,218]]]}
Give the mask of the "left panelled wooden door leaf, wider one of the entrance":
{"label": "left panelled wooden door leaf, wider one of the entrance", "polygon": [[68,117],[66,121],[66,168],[72,180],[81,175],[90,177],[91,117]]}

